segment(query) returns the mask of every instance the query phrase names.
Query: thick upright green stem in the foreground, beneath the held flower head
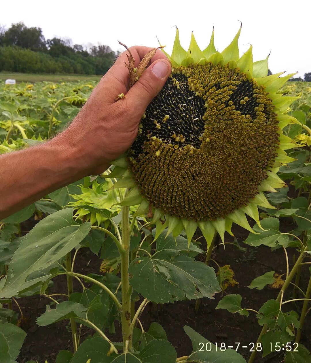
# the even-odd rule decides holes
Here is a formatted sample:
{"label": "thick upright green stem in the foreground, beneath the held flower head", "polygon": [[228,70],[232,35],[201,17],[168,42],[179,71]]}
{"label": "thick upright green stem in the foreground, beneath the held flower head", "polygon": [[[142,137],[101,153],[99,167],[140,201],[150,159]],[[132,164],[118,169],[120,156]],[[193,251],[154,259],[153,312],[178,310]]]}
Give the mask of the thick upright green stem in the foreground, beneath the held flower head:
{"label": "thick upright green stem in the foreground, beneath the held flower head", "polygon": [[[127,194],[127,193],[125,193]],[[121,322],[122,322],[122,337],[123,337],[123,350],[127,347],[132,347],[132,336],[131,336],[131,289],[130,280],[128,276],[128,264],[130,260],[130,226],[129,226],[129,215],[130,208],[122,207],[122,251],[121,257],[121,286],[122,286],[122,311],[121,311]]]}

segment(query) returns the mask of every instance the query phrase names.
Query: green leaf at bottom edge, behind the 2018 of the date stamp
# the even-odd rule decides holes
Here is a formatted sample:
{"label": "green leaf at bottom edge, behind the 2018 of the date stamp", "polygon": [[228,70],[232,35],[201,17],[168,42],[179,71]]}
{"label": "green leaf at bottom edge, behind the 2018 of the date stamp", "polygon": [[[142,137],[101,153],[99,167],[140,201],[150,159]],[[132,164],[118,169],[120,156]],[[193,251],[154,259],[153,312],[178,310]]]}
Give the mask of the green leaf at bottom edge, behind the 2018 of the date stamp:
{"label": "green leaf at bottom edge, behind the 2018 of the date stamp", "polygon": [[[189,326],[184,330],[192,342],[192,353],[189,358],[200,363],[246,363],[241,354],[231,348],[221,351],[215,344],[205,339]],[[210,351],[209,351],[210,350]]]}

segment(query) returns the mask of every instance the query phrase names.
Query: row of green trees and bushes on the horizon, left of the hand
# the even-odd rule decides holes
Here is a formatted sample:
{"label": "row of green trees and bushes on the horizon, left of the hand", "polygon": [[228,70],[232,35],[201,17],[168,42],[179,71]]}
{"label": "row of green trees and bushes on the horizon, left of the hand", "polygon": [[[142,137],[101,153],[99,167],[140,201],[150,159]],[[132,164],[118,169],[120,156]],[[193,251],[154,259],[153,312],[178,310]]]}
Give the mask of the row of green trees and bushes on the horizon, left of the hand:
{"label": "row of green trees and bushes on the horizon, left of the hand", "polygon": [[107,45],[46,40],[41,28],[24,23],[0,26],[0,72],[105,74],[117,55]]}

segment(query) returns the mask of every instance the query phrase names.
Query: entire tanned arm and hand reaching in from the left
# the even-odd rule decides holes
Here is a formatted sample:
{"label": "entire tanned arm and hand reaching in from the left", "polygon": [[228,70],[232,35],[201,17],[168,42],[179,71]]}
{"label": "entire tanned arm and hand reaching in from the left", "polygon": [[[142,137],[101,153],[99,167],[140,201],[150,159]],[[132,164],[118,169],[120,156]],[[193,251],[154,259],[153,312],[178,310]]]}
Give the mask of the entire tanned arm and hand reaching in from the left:
{"label": "entire tanned arm and hand reaching in from the left", "polygon": [[[137,67],[152,48],[131,47]],[[0,220],[84,176],[99,175],[135,140],[141,117],[171,64],[158,49],[130,90],[127,52],[94,88],[77,117],[53,139],[0,156]],[[118,94],[126,97],[116,102]]]}

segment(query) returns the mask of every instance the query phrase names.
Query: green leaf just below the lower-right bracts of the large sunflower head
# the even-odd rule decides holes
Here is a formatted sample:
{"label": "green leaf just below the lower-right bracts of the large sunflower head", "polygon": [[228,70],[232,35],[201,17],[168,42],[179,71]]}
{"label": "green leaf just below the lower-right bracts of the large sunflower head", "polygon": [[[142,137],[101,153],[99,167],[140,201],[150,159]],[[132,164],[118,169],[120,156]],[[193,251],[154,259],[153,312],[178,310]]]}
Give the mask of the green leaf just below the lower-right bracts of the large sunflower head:
{"label": "green leaf just below the lower-right bracts of the large sunflower head", "polygon": [[289,236],[279,231],[279,220],[277,218],[265,218],[261,221],[261,226],[267,231],[262,231],[256,224],[254,231],[259,234],[250,233],[244,241],[250,246],[266,245],[269,247],[275,247],[278,244],[287,246],[289,244]]}

